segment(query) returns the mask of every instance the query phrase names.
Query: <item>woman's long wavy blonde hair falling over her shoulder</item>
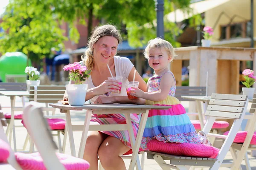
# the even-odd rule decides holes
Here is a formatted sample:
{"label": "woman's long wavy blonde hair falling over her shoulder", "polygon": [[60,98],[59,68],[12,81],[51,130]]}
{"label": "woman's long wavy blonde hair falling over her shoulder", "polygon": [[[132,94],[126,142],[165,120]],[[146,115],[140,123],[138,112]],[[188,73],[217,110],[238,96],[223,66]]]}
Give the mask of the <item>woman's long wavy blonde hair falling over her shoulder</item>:
{"label": "woman's long wavy blonde hair falling over her shoulder", "polygon": [[102,37],[105,36],[112,36],[115,37],[118,41],[118,44],[122,42],[122,36],[119,30],[116,29],[115,26],[112,26],[110,24],[103,25],[103,26],[97,26],[93,29],[91,33],[90,40],[87,43],[87,50],[84,52],[84,54],[81,56],[82,61],[84,62],[84,65],[89,70],[93,69],[93,45]]}

